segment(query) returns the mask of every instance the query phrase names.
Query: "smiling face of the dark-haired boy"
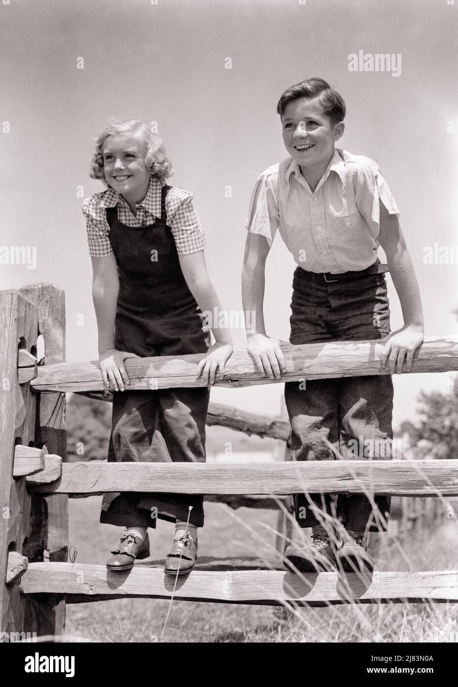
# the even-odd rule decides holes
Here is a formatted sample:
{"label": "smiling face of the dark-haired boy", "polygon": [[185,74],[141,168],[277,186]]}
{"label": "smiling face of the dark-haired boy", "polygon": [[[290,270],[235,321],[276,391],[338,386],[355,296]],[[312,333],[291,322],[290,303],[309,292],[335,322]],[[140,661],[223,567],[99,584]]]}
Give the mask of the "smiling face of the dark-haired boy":
{"label": "smiling face of the dark-haired boy", "polygon": [[324,172],[343,134],[343,122],[333,124],[323,111],[320,98],[298,98],[285,107],[281,117],[283,142],[301,172]]}

